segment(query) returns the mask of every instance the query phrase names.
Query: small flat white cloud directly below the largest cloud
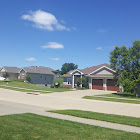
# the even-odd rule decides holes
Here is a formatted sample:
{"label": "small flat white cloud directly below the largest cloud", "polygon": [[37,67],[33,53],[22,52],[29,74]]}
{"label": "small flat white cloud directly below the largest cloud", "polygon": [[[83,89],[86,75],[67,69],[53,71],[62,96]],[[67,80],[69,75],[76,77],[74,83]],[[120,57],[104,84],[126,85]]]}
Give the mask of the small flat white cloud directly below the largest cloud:
{"label": "small flat white cloud directly below the largest cloud", "polygon": [[64,46],[60,43],[57,43],[57,42],[48,42],[46,45],[44,46],[41,46],[41,48],[43,49],[63,49]]}

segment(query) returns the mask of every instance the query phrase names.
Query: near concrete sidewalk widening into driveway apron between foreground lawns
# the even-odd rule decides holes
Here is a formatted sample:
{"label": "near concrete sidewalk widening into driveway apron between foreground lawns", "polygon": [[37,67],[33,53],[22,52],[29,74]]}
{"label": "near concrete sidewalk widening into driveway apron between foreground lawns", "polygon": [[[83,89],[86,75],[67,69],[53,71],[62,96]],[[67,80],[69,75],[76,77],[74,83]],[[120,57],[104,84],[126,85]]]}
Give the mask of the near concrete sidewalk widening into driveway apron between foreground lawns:
{"label": "near concrete sidewalk widening into driveway apron between foreground lawns", "polygon": [[126,132],[133,132],[133,133],[140,134],[140,127],[85,119],[85,118],[62,115],[62,114],[57,114],[57,113],[50,113],[50,112],[46,112],[46,110],[55,110],[55,109],[0,100],[0,116],[20,114],[20,113],[33,113],[33,114],[47,116],[51,118],[57,118],[57,119],[62,119],[62,120],[68,120],[68,121],[79,122],[79,123],[84,123],[88,125],[100,126],[104,128],[110,128],[110,129],[122,130]]}

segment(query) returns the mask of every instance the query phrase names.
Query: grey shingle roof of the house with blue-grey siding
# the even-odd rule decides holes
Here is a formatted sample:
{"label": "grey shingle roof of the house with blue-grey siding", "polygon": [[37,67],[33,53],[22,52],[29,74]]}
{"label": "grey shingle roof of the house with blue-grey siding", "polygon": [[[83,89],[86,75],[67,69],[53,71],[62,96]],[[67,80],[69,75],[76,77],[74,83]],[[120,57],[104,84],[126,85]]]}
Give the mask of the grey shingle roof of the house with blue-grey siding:
{"label": "grey shingle roof of the house with blue-grey siding", "polygon": [[53,72],[55,72],[54,69],[49,67],[43,67],[43,66],[32,66],[32,67],[24,67],[23,68],[27,73],[39,73],[39,74],[51,74],[54,75]]}

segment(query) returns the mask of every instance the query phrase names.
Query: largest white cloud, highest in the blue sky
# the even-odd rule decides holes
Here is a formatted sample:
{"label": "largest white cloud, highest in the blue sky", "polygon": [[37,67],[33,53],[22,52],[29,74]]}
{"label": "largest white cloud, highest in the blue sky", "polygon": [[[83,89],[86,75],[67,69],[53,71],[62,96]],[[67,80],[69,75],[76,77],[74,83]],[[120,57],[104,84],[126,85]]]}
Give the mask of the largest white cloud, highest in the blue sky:
{"label": "largest white cloud, highest in the blue sky", "polygon": [[48,31],[70,30],[66,26],[60,24],[53,14],[42,10],[37,10],[34,12],[30,11],[29,14],[23,15],[22,19],[32,21],[34,23],[34,27],[39,29],[44,29]]}

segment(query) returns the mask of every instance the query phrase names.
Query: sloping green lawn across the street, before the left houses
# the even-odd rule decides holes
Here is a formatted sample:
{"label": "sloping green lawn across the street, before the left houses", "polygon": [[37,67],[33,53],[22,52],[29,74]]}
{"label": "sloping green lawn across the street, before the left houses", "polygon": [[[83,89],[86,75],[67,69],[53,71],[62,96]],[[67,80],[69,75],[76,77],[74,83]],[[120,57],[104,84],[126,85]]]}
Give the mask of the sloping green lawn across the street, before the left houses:
{"label": "sloping green lawn across the street, before the left houses", "polygon": [[[23,92],[41,92],[41,93],[69,91],[69,89],[67,88],[47,88],[47,87],[41,87],[30,83],[18,82],[18,81],[9,81],[9,82],[0,81],[0,88],[6,88],[6,89],[11,89],[16,91],[23,91]],[[20,88],[24,88],[24,89],[20,89]]]}

